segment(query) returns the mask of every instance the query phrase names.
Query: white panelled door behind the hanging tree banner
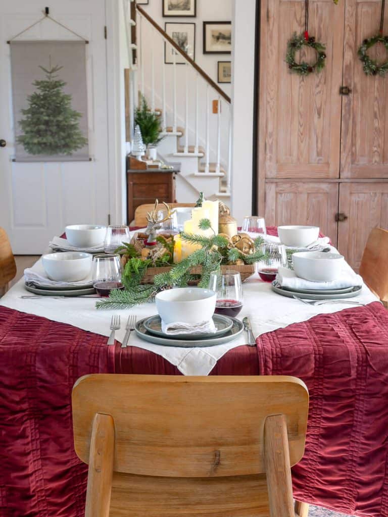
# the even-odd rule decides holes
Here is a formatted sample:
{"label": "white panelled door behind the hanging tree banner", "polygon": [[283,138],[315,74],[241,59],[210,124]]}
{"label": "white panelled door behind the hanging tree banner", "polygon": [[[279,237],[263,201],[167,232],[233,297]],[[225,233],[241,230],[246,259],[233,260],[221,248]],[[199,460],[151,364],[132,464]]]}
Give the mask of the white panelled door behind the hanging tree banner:
{"label": "white panelled door behind the hanging tree banner", "polygon": [[[88,141],[91,161],[14,162],[10,45],[6,41],[43,16],[37,0],[0,0],[0,226],[14,254],[43,252],[67,224],[106,224],[109,213],[105,0],[52,0],[50,16],[89,41],[86,45]],[[44,20],[18,39],[72,40]]]}

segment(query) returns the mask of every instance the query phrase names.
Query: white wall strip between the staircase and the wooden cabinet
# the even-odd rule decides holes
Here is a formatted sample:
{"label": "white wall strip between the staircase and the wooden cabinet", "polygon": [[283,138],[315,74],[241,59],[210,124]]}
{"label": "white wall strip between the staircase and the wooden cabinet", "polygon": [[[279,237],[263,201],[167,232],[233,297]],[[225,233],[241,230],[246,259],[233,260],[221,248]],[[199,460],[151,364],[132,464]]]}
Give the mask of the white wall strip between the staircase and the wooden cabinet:
{"label": "white wall strip between the staircase and the wooden cabinet", "polygon": [[255,84],[256,0],[234,0],[232,27],[232,214],[251,214],[253,85]]}

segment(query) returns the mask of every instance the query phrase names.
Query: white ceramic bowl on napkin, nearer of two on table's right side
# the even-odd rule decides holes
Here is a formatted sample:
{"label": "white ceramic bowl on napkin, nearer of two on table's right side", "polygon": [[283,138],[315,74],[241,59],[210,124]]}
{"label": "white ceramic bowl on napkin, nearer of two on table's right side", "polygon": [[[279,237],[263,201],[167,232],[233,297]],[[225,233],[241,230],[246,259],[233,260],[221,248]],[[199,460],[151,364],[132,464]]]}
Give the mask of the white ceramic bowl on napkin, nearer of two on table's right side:
{"label": "white ceramic bowl on napkin, nearer of two on table's right side", "polygon": [[299,251],[292,254],[292,262],[298,277],[313,282],[331,282],[341,275],[344,257],[338,253]]}

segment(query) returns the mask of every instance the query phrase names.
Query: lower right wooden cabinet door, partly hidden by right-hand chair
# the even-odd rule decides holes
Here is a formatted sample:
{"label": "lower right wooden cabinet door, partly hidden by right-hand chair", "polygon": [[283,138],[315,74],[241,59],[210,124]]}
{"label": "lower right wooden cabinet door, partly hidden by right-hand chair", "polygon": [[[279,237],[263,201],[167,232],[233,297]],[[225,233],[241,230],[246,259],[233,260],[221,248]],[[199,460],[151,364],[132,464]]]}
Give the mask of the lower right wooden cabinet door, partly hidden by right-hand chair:
{"label": "lower right wooden cabinet door, partly hidden by right-hand chair", "polygon": [[358,271],[370,230],[388,229],[388,181],[341,183],[339,211],[347,219],[338,223],[338,249]]}

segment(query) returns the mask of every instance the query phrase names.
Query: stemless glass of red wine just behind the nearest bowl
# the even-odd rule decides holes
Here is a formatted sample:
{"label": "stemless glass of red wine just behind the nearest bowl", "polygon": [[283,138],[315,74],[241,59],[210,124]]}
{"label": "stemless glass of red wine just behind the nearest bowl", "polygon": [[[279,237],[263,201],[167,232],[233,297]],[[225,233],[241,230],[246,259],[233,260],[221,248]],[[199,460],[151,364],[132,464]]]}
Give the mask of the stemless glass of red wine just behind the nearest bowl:
{"label": "stemless glass of red wine just behind the nearest bowl", "polygon": [[217,293],[216,312],[223,316],[236,316],[243,308],[243,286],[237,271],[215,271],[211,274],[209,288]]}

